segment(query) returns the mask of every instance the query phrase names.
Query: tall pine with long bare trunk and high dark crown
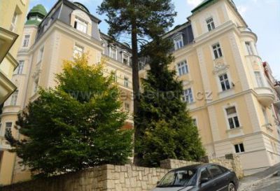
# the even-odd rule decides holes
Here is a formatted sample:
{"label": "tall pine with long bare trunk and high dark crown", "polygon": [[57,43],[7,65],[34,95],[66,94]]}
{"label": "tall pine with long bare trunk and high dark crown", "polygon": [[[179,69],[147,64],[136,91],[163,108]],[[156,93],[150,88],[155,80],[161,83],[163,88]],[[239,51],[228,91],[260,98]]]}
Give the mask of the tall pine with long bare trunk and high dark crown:
{"label": "tall pine with long bare trunk and high dark crown", "polygon": [[[134,115],[139,108],[139,59],[138,42],[140,38],[150,38],[164,34],[174,22],[174,5],[171,0],[103,0],[99,13],[108,19],[109,35],[118,37],[129,34],[132,44],[132,86],[134,92]],[[134,123],[134,136],[137,139],[139,128]],[[137,155],[134,163],[137,164]]]}

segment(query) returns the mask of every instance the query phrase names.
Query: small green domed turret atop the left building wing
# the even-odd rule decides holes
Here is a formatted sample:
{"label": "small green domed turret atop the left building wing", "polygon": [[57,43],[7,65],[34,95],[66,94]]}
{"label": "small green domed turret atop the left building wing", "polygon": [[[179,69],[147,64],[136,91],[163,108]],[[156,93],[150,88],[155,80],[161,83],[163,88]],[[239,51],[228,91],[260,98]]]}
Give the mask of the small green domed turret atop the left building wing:
{"label": "small green domed turret atop the left building wing", "polygon": [[35,24],[38,26],[45,15],[47,15],[45,7],[41,4],[38,4],[31,8],[27,14],[27,22],[25,22],[25,24]]}

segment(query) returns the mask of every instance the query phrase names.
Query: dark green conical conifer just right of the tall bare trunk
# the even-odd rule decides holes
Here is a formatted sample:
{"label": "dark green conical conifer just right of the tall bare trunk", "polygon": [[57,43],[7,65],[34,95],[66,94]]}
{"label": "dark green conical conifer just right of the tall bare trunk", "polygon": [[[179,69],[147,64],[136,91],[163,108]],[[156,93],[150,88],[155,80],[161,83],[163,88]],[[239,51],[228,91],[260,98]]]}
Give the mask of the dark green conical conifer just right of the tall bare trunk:
{"label": "dark green conical conifer just right of the tall bare trunk", "polygon": [[172,42],[154,36],[143,49],[151,69],[143,80],[139,113],[140,136],[136,150],[141,165],[158,167],[160,160],[199,160],[204,148],[197,127],[186,111],[183,102],[183,86],[176,79],[176,71],[170,68]]}

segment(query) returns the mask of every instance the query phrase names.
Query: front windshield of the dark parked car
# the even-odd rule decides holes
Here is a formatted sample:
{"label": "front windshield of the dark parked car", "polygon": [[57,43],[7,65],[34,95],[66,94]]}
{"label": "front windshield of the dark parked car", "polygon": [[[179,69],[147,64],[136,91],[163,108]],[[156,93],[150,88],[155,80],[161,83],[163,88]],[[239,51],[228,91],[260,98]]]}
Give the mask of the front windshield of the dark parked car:
{"label": "front windshield of the dark parked car", "polygon": [[196,169],[184,169],[178,171],[169,171],[157,187],[185,187],[195,185]]}

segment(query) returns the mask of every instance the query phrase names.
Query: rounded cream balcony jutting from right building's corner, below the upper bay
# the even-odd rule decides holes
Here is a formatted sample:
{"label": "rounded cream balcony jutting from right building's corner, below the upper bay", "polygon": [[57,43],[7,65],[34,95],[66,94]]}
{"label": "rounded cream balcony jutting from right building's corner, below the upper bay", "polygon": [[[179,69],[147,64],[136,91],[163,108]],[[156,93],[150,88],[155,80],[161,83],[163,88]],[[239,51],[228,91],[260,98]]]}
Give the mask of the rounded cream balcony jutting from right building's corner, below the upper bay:
{"label": "rounded cream balcony jutting from right building's corner, below the upper bay", "polygon": [[256,87],[255,94],[260,104],[265,107],[270,106],[275,99],[273,91],[269,87]]}

